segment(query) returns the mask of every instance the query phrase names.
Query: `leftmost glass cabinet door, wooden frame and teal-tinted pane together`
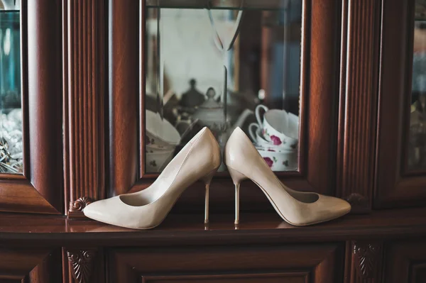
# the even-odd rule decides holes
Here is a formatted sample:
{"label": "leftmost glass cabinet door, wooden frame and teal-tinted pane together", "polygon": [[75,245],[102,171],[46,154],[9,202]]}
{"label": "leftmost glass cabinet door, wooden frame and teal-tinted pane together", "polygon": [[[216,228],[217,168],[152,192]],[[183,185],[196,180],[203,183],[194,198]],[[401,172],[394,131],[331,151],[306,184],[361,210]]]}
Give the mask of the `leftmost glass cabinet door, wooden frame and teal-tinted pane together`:
{"label": "leftmost glass cabinet door, wooden frame and teal-tinted pane together", "polygon": [[0,211],[62,213],[61,7],[0,0]]}

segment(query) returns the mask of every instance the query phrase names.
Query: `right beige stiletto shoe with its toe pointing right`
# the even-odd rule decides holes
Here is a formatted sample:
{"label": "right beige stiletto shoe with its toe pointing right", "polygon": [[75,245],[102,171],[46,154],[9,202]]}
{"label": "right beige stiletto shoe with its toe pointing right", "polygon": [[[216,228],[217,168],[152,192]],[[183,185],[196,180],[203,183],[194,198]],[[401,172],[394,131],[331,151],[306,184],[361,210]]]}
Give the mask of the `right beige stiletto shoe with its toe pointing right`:
{"label": "right beige stiletto shoe with its toe pointing right", "polygon": [[235,223],[239,223],[239,187],[251,179],[266,194],[275,211],[294,226],[329,221],[351,211],[343,199],[316,193],[297,192],[286,187],[272,172],[241,128],[236,128],[225,145],[224,162],[235,184]]}

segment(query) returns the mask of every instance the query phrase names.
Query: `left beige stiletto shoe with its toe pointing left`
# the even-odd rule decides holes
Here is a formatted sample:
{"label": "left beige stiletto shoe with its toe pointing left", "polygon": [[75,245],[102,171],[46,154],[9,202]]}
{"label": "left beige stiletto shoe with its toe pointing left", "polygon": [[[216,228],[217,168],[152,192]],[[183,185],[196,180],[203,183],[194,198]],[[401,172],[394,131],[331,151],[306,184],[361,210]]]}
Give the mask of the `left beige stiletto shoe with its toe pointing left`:
{"label": "left beige stiletto shoe with its toe pointing left", "polygon": [[134,229],[151,229],[163,222],[182,192],[191,184],[205,182],[205,217],[209,221],[209,184],[221,164],[221,152],[208,128],[203,128],[150,187],[133,194],[95,201],[84,215],[97,221]]}

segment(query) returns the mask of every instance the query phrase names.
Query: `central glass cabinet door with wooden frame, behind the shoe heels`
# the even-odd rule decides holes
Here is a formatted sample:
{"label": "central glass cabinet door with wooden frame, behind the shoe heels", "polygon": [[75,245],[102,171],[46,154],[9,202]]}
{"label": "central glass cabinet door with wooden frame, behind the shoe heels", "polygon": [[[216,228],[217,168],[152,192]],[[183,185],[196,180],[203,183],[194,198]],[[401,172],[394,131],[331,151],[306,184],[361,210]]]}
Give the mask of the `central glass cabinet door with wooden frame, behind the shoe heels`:
{"label": "central glass cabinet door with wooden frame, behind the shoe heels", "polygon": [[[109,1],[110,195],[146,188],[203,127],[222,150],[241,128],[283,182],[334,194],[341,9],[333,0]],[[219,171],[210,200],[231,207],[232,182]],[[200,185],[179,203],[198,203]],[[242,201],[259,207],[262,193],[246,187]]]}

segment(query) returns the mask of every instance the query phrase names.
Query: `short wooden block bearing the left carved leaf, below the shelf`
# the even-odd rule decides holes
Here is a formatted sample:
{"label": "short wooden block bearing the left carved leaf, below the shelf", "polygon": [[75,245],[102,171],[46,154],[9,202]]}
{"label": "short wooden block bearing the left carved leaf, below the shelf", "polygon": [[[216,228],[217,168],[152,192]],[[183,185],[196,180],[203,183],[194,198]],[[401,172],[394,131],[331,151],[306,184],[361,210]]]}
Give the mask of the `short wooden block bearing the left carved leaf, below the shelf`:
{"label": "short wooden block bearing the left carved leaf, below the shelf", "polygon": [[64,283],[105,282],[105,262],[102,249],[63,248],[62,262]]}

